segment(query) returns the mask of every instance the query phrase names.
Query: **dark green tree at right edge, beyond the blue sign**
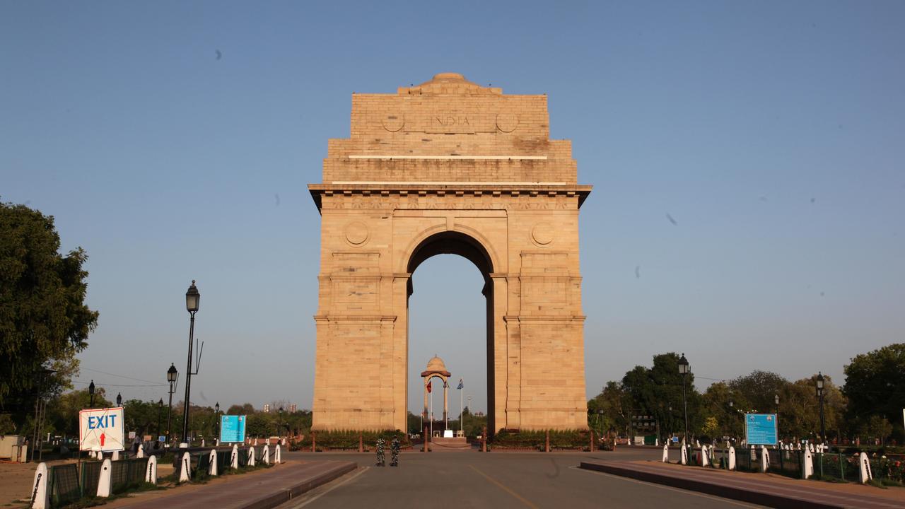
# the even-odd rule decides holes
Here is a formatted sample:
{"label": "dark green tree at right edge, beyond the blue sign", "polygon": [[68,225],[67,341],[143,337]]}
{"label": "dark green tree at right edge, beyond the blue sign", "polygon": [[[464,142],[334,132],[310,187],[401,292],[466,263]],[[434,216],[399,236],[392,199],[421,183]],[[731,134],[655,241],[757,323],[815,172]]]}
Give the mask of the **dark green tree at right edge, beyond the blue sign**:
{"label": "dark green tree at right edge, beyond the blue sign", "polygon": [[[849,419],[863,424],[871,416],[901,415],[905,408],[905,343],[856,355],[844,370]],[[899,419],[896,429],[900,438],[905,437]]]}

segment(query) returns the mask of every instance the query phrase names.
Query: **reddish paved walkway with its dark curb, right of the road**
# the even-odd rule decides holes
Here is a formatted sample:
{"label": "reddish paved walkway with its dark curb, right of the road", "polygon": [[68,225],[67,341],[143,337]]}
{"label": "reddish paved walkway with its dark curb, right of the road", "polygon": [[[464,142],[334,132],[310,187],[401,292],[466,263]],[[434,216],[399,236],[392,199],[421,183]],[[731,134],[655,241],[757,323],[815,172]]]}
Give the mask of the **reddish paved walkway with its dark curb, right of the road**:
{"label": "reddish paved walkway with its dark curb, right of the road", "polygon": [[583,461],[581,468],[631,477],[769,507],[892,509],[905,507],[905,489],[835,485],[779,475],[729,472],[653,461]]}

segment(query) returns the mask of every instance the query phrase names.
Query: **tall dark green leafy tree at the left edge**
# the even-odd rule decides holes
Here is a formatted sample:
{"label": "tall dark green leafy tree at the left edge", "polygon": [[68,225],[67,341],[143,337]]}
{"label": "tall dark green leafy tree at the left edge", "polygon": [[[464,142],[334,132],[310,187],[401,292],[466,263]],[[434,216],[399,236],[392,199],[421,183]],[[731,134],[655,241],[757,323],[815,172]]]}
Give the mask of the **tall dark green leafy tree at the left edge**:
{"label": "tall dark green leafy tree at the left edge", "polygon": [[0,203],[0,406],[20,419],[39,396],[68,385],[71,371],[43,370],[69,365],[98,323],[84,303],[88,255],[59,249],[52,216]]}

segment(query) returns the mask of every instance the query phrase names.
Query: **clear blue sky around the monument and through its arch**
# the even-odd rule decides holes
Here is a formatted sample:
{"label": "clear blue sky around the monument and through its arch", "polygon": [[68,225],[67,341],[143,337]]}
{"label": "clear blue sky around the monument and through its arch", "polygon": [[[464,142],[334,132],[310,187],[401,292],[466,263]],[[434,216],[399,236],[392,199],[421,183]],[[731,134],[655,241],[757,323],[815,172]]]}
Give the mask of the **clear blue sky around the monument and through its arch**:
{"label": "clear blue sky around the monument and through its arch", "polygon": [[[436,72],[547,93],[553,137],[595,186],[589,396],[665,351],[700,386],[756,369],[841,381],[853,355],[902,341],[905,3],[330,4],[0,4],[0,196],[90,255],[100,326],[79,380],[185,371],[197,279],[193,399],[310,408],[305,186],[348,136],[353,91]],[[485,409],[480,274],[446,255],[414,278],[410,408],[438,353]]]}

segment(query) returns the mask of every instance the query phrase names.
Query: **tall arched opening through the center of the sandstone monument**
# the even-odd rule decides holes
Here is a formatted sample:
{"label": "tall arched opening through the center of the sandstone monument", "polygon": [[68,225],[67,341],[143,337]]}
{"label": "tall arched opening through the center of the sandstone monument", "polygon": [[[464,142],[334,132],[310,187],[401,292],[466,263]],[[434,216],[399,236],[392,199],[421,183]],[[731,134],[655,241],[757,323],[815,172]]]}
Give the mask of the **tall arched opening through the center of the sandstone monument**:
{"label": "tall arched opening through the center of the sandstone monument", "polygon": [[[418,270],[420,268],[420,270]],[[474,269],[477,268],[477,271]],[[452,371],[450,421],[461,418],[462,401],[469,414],[487,416],[495,429],[493,394],[493,272],[491,256],[469,235],[446,231],[414,248],[407,272],[412,274],[406,301],[408,316],[406,405],[414,416],[423,409],[424,363],[439,355]],[[417,298],[413,299],[415,289]],[[483,299],[476,298],[480,295]],[[464,388],[456,389],[459,379]],[[440,398],[442,415],[443,391]],[[467,399],[471,396],[472,400]],[[436,407],[434,407],[436,408]],[[471,416],[466,414],[466,426]],[[434,412],[434,417],[437,415]],[[455,417],[455,418],[453,418]],[[452,427],[452,426],[451,426]],[[455,429],[459,429],[456,422]]]}

